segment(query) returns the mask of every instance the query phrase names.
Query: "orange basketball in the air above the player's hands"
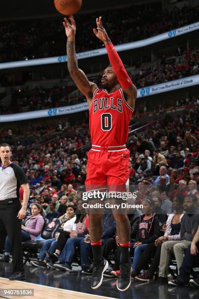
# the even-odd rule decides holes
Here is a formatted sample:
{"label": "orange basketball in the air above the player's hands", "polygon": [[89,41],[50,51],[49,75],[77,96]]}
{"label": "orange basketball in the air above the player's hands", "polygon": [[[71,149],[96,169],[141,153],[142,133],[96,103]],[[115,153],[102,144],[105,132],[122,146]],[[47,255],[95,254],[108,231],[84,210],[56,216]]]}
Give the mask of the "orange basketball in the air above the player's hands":
{"label": "orange basketball in the air above the player's hands", "polygon": [[80,10],[81,0],[54,0],[56,9],[62,15],[74,15]]}

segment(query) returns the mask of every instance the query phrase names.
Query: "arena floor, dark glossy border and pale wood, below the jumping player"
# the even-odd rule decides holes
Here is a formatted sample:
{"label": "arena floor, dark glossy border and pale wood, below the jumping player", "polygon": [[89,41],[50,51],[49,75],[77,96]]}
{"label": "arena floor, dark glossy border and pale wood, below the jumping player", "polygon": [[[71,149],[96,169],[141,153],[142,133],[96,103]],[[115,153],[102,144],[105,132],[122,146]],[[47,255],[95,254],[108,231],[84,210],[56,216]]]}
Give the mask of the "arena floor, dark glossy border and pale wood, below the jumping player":
{"label": "arena floor, dark glossy border and pale wood, below the jumping player", "polygon": [[[10,281],[11,263],[0,262],[0,289],[24,288],[34,289],[35,298],[65,298],[68,299],[198,299],[199,289],[195,287],[171,287],[158,283],[132,282],[126,292],[119,292],[116,288],[117,279],[104,278],[98,290],[90,288],[90,277],[80,273],[64,273],[56,270],[25,266],[27,280],[24,282]],[[3,296],[0,298],[16,298]],[[17,297],[25,298],[25,297]],[[26,297],[32,298],[32,297]]]}

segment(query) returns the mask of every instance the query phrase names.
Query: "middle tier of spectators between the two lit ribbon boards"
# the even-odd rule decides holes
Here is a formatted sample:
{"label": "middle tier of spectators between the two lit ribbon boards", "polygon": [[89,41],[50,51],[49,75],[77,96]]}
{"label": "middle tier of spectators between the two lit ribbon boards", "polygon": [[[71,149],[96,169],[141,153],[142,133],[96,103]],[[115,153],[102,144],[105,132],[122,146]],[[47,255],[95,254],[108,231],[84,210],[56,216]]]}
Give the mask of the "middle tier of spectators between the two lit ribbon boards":
{"label": "middle tier of spectators between the two lit ribbon boards", "polygon": [[[137,88],[141,88],[196,74],[199,74],[199,52],[189,49],[180,58],[162,57],[159,68],[151,68],[145,64],[136,75],[131,75],[131,77]],[[100,86],[100,78],[100,76],[92,78],[92,81]],[[0,113],[19,113],[85,102],[85,97],[78,90],[75,93],[72,92],[74,88],[74,86],[54,86],[49,89],[42,86],[34,86],[33,89],[26,87],[16,90],[13,88],[10,106],[0,105]]]}

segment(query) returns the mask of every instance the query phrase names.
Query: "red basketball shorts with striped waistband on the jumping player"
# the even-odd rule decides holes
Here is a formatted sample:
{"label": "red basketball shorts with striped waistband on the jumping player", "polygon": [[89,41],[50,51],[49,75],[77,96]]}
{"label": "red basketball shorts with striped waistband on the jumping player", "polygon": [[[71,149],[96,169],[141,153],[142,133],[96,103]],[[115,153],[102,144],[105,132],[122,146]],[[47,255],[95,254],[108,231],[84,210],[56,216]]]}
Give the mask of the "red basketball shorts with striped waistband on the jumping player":
{"label": "red basketball shorts with striped waistband on the jumping player", "polygon": [[126,146],[92,146],[88,153],[86,191],[126,192],[129,177],[129,150]]}

